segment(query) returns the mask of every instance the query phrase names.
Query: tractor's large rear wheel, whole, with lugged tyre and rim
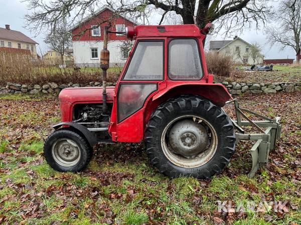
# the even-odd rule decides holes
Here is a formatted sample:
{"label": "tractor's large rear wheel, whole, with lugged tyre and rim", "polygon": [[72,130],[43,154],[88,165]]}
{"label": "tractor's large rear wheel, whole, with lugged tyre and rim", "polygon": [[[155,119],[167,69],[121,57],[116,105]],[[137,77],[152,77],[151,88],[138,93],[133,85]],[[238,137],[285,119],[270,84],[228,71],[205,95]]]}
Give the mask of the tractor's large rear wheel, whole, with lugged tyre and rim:
{"label": "tractor's large rear wheel, whole, with lugged tyre and rim", "polygon": [[161,104],[150,116],[145,145],[161,173],[208,179],[228,164],[235,132],[221,107],[201,96],[181,95]]}

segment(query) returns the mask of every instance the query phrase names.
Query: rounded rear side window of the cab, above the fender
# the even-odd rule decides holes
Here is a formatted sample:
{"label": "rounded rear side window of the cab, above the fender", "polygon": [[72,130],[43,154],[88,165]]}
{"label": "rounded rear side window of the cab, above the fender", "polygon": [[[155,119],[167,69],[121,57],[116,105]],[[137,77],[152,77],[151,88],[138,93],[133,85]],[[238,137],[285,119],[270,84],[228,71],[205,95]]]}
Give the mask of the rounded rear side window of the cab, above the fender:
{"label": "rounded rear side window of the cab, above the fender", "polygon": [[171,79],[201,79],[203,69],[196,39],[172,39],[169,42],[168,76]]}

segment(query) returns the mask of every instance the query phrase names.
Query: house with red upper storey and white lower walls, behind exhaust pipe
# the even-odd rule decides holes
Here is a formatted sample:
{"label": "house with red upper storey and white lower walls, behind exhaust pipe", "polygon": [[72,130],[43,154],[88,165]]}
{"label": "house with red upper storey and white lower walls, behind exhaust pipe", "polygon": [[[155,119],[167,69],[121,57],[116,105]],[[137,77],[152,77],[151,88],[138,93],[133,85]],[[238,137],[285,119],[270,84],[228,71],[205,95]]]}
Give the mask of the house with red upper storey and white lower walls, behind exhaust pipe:
{"label": "house with red upper storey and white lower walls, behind exhaust pipe", "polygon": [[[126,16],[116,15],[112,8],[103,6],[71,28],[74,62],[79,67],[99,67],[100,50],[103,47],[103,29],[111,24],[111,30],[124,31],[135,23]],[[128,56],[128,39],[125,35],[109,34],[110,64],[123,65]]]}

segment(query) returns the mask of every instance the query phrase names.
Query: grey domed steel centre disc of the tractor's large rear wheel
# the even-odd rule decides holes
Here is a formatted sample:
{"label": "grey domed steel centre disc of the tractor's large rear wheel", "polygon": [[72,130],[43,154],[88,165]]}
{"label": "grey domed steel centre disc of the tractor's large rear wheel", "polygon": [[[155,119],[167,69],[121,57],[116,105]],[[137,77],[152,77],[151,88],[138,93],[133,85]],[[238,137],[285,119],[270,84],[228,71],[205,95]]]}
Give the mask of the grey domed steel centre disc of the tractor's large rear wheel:
{"label": "grey domed steel centre disc of the tractor's large rear wheel", "polygon": [[175,153],[193,158],[206,150],[208,132],[206,128],[192,119],[177,121],[169,132],[169,143]]}

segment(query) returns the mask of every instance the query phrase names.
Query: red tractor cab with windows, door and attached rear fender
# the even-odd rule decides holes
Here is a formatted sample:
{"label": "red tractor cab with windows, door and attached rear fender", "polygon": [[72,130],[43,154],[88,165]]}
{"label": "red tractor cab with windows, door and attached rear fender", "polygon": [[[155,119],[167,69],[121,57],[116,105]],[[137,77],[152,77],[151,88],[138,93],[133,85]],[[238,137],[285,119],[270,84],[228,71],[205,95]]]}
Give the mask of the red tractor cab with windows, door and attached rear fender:
{"label": "red tractor cab with windows, door and attached rear fender", "polygon": [[204,56],[205,35],[196,25],[139,25],[128,30],[135,42],[116,84],[109,126],[114,141],[142,141],[150,112],[177,93],[201,94],[220,106],[231,98],[223,85],[212,83]]}

